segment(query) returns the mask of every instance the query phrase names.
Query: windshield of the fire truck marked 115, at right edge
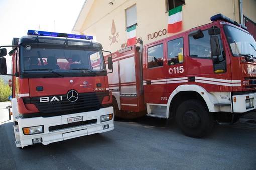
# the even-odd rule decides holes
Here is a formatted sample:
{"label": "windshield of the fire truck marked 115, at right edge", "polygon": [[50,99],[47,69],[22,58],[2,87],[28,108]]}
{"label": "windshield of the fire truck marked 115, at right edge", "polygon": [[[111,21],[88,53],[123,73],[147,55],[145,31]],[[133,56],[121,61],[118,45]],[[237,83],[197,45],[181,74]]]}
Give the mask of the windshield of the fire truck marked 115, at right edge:
{"label": "windshield of the fire truck marked 115, at right edge", "polygon": [[224,30],[233,56],[256,57],[256,42],[250,34],[228,25]]}

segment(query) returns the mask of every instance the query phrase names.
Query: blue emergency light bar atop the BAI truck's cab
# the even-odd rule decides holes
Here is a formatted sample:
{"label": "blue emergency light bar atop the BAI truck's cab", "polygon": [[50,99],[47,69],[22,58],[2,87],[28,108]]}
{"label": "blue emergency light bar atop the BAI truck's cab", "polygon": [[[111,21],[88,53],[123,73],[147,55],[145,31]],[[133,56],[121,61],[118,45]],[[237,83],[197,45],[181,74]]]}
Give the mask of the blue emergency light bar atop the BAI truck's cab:
{"label": "blue emergency light bar atop the BAI truck's cab", "polygon": [[37,31],[37,30],[28,30],[28,35],[65,37],[65,38],[76,38],[76,39],[87,39],[87,40],[93,39],[93,36],[88,36],[88,35],[46,32],[46,31]]}

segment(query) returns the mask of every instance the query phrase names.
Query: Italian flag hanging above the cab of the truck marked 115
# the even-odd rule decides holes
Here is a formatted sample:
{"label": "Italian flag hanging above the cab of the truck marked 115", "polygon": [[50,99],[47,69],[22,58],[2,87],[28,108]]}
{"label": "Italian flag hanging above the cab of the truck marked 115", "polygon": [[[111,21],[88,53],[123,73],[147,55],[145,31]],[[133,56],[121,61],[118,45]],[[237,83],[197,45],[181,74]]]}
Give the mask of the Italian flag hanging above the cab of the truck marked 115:
{"label": "Italian flag hanging above the cab of the truck marked 115", "polygon": [[175,7],[174,9],[169,10],[168,15],[168,33],[175,33],[181,31],[182,26],[182,14],[181,6]]}

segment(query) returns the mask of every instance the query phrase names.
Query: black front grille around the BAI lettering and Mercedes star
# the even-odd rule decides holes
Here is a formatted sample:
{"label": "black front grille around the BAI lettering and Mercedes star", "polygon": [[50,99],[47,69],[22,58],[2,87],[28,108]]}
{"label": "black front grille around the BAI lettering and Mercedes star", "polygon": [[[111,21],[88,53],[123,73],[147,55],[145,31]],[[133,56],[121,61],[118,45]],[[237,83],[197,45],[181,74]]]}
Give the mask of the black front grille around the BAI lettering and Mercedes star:
{"label": "black front grille around the BAI lettering and Mercedes star", "polygon": [[[70,102],[66,95],[48,96],[49,102],[40,102],[40,97],[24,98],[24,104],[34,104],[43,117],[86,112],[102,108],[102,100],[108,92],[81,93],[75,102]],[[62,100],[60,99],[62,96]],[[51,99],[56,97],[58,100]]]}

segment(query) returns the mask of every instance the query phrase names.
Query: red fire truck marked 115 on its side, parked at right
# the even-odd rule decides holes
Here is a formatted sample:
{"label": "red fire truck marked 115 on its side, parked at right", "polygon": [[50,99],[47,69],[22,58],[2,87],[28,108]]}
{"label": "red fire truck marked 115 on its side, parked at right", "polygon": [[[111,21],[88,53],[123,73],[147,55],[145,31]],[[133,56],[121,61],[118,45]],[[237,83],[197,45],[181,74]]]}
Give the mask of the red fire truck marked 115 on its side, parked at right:
{"label": "red fire truck marked 115 on its side, parked at right", "polygon": [[200,138],[217,122],[233,123],[256,106],[256,42],[222,14],[212,23],[112,54],[114,114],[175,117]]}

